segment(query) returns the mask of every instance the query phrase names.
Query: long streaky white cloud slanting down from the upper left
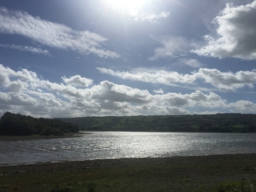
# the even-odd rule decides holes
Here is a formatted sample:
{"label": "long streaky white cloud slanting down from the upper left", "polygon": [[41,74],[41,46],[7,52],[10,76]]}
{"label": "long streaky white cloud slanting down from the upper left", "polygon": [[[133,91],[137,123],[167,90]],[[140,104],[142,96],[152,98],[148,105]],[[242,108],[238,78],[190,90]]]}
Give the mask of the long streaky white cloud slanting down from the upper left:
{"label": "long streaky white cloud slanting down from the upper left", "polygon": [[[90,31],[73,30],[63,24],[42,20],[24,11],[8,10],[2,6],[0,6],[0,32],[18,34],[46,46],[70,49],[80,54],[93,53],[103,58],[120,58],[120,54],[102,48],[102,45],[108,40],[104,36]],[[33,50],[31,47],[10,47]],[[34,49],[34,52],[36,51],[40,52],[40,50]],[[47,52],[45,53],[47,54]]]}

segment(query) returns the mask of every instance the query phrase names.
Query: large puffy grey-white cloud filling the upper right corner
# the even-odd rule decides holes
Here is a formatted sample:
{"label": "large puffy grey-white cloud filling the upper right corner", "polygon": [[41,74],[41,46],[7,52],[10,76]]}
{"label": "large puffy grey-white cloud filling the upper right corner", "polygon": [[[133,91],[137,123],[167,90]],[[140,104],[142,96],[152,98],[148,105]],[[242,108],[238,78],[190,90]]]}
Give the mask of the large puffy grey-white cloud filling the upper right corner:
{"label": "large puffy grey-white cloud filling the upper right corner", "polygon": [[244,60],[256,59],[256,1],[233,6],[226,4],[213,23],[217,36],[206,35],[208,45],[192,52],[218,58],[234,57]]}

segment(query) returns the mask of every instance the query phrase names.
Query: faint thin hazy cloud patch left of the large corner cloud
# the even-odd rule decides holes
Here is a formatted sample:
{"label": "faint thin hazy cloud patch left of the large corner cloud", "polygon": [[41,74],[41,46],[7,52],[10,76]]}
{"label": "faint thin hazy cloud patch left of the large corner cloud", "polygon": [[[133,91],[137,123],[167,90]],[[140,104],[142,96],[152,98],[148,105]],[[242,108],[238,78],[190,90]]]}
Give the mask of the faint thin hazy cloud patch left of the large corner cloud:
{"label": "faint thin hazy cloud patch left of the large corner cloud", "polygon": [[149,60],[157,60],[158,58],[185,56],[189,50],[194,47],[194,44],[185,38],[174,36],[155,37],[150,35],[155,41],[162,46],[155,48],[154,55],[148,58]]}

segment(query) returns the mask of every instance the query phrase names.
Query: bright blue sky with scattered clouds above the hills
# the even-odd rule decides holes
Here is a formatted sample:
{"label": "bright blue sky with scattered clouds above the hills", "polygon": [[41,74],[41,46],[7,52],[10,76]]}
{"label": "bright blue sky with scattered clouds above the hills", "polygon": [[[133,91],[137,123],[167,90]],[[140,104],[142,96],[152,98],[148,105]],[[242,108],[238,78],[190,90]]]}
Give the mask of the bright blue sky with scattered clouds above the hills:
{"label": "bright blue sky with scattered clouds above the hills", "polygon": [[0,116],[256,113],[256,0],[0,0]]}

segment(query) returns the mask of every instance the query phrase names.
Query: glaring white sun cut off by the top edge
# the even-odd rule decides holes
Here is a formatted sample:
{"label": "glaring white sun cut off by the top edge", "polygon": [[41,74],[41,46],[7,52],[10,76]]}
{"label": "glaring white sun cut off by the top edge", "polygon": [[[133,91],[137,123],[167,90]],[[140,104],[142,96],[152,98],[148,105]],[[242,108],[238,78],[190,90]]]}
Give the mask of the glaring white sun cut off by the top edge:
{"label": "glaring white sun cut off by the top edge", "polygon": [[107,0],[114,8],[118,9],[139,9],[143,6],[146,0]]}

